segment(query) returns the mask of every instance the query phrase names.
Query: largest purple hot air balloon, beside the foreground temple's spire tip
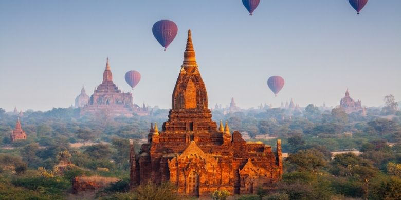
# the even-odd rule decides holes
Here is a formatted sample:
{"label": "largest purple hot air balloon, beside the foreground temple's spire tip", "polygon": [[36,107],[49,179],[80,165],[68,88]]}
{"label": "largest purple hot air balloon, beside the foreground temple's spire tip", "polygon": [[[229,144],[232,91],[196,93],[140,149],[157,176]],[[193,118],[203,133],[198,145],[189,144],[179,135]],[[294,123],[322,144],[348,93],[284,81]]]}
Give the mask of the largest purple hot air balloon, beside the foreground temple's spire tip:
{"label": "largest purple hot air balloon, beside the foreground temple's spire tip", "polygon": [[177,35],[178,27],[170,20],[157,21],[152,28],[153,35],[160,43],[161,46],[166,48],[173,42],[173,39]]}

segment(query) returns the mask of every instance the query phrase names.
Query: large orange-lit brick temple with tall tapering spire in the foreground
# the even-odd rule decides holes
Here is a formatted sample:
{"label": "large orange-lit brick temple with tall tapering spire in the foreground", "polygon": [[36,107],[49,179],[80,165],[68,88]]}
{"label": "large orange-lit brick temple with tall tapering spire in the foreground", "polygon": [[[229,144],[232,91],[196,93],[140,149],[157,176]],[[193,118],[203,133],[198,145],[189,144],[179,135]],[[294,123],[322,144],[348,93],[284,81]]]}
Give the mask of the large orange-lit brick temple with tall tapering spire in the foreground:
{"label": "large orange-lit brick temple with tall tapering spire in the foreground", "polygon": [[199,73],[188,31],[184,62],[172,95],[169,119],[159,131],[151,125],[148,143],[130,151],[130,186],[170,181],[180,193],[207,196],[214,190],[254,194],[272,188],[283,173],[281,142],[277,151],[262,142],[247,143],[228,123],[217,127],[208,109],[206,87]]}

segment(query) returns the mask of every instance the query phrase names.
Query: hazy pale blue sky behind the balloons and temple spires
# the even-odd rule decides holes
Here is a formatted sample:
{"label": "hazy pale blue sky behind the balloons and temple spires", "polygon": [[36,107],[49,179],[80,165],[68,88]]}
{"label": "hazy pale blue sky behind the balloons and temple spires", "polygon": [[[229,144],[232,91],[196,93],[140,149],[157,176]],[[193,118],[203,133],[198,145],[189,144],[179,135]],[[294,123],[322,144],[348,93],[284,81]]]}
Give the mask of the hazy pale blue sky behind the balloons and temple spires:
{"label": "hazy pale blue sky behind the balloons and temple spires", "polygon": [[[240,0],[0,1],[0,107],[46,111],[74,104],[102,81],[141,73],[134,103],[171,107],[188,29],[209,107],[261,103],[339,105],[345,89],[362,105],[401,99],[401,1],[370,0],[360,15],[347,0],[261,0],[249,16]],[[166,52],[152,34],[170,19]],[[277,97],[269,76],[285,79]]]}

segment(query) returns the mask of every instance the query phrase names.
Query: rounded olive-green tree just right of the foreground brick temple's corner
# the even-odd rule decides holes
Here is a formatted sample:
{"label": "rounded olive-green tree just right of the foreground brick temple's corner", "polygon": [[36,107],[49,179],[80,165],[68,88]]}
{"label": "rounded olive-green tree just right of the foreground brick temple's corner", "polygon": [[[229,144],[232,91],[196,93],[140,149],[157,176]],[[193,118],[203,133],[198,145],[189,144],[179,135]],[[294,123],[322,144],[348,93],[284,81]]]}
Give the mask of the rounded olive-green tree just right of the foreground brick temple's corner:
{"label": "rounded olive-green tree just right of the foreground brick temple's corner", "polygon": [[327,162],[323,158],[324,155],[320,151],[316,149],[306,149],[290,154],[287,161],[295,164],[299,171],[310,171],[314,173],[326,166]]}

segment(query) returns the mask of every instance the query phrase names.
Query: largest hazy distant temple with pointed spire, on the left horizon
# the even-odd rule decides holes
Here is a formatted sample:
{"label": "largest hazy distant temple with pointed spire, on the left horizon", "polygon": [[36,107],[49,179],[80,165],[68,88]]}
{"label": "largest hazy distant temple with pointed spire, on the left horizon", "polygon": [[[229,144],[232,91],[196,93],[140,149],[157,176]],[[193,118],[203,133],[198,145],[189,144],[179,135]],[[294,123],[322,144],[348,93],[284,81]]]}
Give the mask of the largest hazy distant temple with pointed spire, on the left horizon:
{"label": "largest hazy distant temple with pointed spire, on the left horizon", "polygon": [[97,114],[99,111],[104,111],[114,116],[124,115],[130,117],[133,113],[149,115],[148,108],[141,108],[132,103],[132,93],[121,92],[116,84],[113,83],[113,74],[108,58],[106,69],[103,72],[103,81],[90,96],[88,104],[81,108],[80,114]]}

